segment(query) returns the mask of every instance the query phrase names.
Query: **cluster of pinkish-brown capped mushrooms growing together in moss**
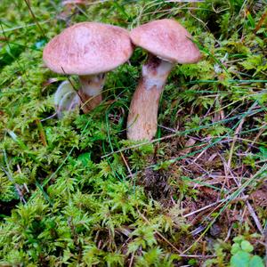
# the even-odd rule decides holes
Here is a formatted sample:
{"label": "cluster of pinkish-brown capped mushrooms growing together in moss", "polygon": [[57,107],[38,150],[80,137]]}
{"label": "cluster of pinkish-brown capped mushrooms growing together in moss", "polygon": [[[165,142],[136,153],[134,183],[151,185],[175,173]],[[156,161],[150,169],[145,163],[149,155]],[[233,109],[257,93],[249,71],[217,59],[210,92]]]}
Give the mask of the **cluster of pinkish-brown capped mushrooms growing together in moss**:
{"label": "cluster of pinkish-brown capped mushrooms growing together in moss", "polygon": [[81,89],[74,93],[70,88],[67,97],[62,93],[67,91],[60,86],[56,104],[61,103],[61,112],[73,109],[79,101],[85,113],[95,108],[101,102],[105,73],[130,58],[133,44],[140,46],[149,55],[131,101],[127,137],[151,140],[157,132],[160,94],[174,64],[200,60],[198,47],[191,38],[181,24],[170,19],[151,21],[134,28],[130,34],[124,28],[98,22],[82,22],[66,28],[45,46],[44,63],[54,72],[77,75]]}

